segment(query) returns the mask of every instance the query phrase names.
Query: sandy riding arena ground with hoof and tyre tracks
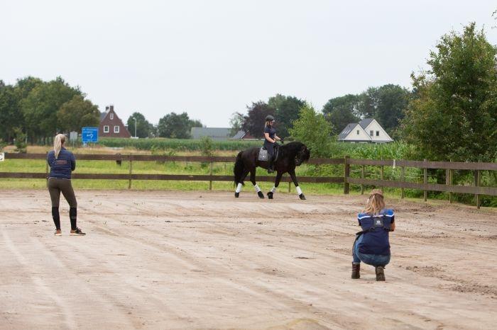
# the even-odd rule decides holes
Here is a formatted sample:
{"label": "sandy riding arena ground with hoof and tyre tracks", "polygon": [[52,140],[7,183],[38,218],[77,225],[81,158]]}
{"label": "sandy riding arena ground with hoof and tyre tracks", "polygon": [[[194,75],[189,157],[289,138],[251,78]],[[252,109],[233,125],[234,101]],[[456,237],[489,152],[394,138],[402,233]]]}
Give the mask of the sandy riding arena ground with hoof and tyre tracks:
{"label": "sandy riding arena ground with hoof and tyre tracks", "polygon": [[[305,187],[304,187],[305,192]],[[386,282],[351,280],[366,196],[0,190],[0,329],[496,329],[497,212],[400,200]]]}

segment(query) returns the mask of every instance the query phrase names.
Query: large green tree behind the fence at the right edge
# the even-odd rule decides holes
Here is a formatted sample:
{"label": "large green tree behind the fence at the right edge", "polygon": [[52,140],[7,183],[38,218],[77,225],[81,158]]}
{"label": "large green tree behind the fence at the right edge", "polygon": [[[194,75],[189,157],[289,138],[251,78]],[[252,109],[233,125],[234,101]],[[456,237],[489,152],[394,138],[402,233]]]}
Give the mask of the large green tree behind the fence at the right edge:
{"label": "large green tree behind the fence at the right edge", "polygon": [[[491,161],[497,155],[497,48],[475,23],[442,36],[430,69],[412,74],[416,98],[403,137],[434,160]],[[434,143],[436,141],[436,143]]]}

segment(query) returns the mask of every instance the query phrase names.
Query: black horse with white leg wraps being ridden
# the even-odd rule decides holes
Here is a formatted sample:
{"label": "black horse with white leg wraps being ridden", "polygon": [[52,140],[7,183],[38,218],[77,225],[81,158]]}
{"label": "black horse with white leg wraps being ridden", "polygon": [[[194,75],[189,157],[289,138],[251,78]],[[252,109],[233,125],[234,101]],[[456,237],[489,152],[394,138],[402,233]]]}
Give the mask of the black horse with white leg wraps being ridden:
{"label": "black horse with white leg wraps being ridden", "polygon": [[[246,149],[243,152],[239,152],[236,156],[236,162],[234,167],[235,174],[235,197],[239,197],[241,187],[244,185],[244,179],[250,172],[250,181],[252,182],[254,188],[256,188],[257,195],[259,198],[264,198],[264,194],[261,188],[256,183],[256,167],[262,167],[263,169],[268,168],[267,161],[259,161],[259,147],[253,147]],[[275,161],[273,168],[276,171],[276,180],[274,182],[273,188],[268,192],[268,198],[273,199],[273,193],[280,184],[281,176],[283,173],[288,173],[292,177],[292,181],[297,189],[297,194],[301,200],[305,200],[305,195],[300,190],[298,186],[297,176],[295,176],[295,166],[300,166],[302,162],[309,160],[310,150],[307,149],[305,144],[302,142],[290,142],[288,144],[283,144],[278,147],[279,154],[278,159]]]}

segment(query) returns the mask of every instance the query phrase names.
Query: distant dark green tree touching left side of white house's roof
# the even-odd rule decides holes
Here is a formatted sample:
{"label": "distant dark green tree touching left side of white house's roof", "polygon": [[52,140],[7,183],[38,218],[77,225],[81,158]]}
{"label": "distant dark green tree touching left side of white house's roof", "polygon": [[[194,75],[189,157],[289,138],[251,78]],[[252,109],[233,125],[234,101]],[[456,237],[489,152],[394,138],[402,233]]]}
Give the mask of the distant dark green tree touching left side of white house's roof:
{"label": "distant dark green tree touching left side of white house's roof", "polygon": [[359,103],[359,96],[354,94],[329,99],[322,113],[333,127],[332,134],[337,135],[346,125],[359,121]]}

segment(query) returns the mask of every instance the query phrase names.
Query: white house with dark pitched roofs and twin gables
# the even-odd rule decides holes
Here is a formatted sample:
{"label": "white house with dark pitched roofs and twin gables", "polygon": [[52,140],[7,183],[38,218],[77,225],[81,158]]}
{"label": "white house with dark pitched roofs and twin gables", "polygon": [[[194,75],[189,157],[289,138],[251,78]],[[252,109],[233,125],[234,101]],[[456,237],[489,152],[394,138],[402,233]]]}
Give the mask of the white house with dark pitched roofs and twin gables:
{"label": "white house with dark pitched roofs and twin gables", "polygon": [[390,135],[383,130],[374,118],[364,118],[359,123],[346,125],[344,130],[338,135],[341,142],[371,142],[388,143],[393,142]]}

